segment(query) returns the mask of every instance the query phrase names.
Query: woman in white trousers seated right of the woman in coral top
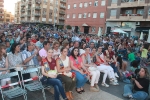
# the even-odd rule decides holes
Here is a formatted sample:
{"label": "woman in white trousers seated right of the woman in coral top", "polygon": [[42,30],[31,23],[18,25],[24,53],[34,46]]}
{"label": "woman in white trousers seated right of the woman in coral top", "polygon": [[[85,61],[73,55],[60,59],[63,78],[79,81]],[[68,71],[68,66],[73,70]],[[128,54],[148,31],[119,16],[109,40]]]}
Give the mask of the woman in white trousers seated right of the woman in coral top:
{"label": "woman in white trousers seated right of the woman in coral top", "polygon": [[90,91],[98,92],[99,86],[97,85],[99,82],[100,72],[97,70],[97,66],[91,62],[90,58],[90,48],[87,46],[85,48],[85,53],[82,54],[83,66],[87,68],[91,75],[91,87]]}

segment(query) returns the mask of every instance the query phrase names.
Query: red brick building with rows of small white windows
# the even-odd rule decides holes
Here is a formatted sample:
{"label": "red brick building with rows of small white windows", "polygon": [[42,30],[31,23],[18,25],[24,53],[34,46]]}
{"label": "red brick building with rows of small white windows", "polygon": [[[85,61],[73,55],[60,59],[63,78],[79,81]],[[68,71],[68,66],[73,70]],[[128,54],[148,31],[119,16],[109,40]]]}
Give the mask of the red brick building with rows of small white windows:
{"label": "red brick building with rows of small white windows", "polygon": [[107,1],[68,0],[65,25],[71,25],[77,33],[104,33]]}

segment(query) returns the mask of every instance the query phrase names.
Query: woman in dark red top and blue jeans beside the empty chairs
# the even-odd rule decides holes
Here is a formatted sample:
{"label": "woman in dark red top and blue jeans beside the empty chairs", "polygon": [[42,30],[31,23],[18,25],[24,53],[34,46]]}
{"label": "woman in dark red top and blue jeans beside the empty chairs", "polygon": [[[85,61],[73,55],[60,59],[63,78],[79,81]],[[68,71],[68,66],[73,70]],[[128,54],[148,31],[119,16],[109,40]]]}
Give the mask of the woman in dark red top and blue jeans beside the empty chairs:
{"label": "woman in dark red top and blue jeans beside the empty chairs", "polygon": [[[43,84],[52,85],[54,87],[54,98],[55,100],[60,100],[59,94],[62,95],[64,100],[68,100],[62,85],[62,82],[57,79],[57,70],[56,70],[56,60],[52,58],[53,50],[49,49],[47,52],[47,58],[45,58],[45,61],[43,60],[42,65],[42,74],[43,77],[41,78],[41,82]],[[46,65],[49,67],[50,70],[45,70]],[[46,80],[46,81],[45,81]]]}

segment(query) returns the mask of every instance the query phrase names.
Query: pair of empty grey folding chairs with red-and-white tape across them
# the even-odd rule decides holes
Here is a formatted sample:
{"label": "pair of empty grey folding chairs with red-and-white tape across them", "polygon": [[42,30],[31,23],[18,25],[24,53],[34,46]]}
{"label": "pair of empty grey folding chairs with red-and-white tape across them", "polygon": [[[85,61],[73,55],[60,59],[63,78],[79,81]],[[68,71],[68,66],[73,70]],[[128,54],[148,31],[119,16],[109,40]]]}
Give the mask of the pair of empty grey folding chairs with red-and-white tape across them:
{"label": "pair of empty grey folding chairs with red-and-white tape across them", "polygon": [[[14,99],[16,97],[23,96],[25,100],[27,100],[27,90],[30,92],[42,90],[43,98],[46,100],[45,92],[44,90],[47,88],[51,88],[51,86],[43,86],[40,82],[41,77],[41,70],[40,66],[34,66],[31,68],[28,68],[26,70],[16,71],[16,72],[10,72],[7,74],[0,75],[0,80],[6,79],[6,78],[12,78],[12,77],[18,77],[18,80],[16,82],[12,82],[11,84],[0,86],[0,91],[2,94],[2,100],[7,99]],[[28,73],[37,73],[37,76],[29,79],[23,79],[24,74]],[[25,84],[26,82],[29,82],[28,84]],[[6,89],[9,87],[13,87],[12,89]]]}

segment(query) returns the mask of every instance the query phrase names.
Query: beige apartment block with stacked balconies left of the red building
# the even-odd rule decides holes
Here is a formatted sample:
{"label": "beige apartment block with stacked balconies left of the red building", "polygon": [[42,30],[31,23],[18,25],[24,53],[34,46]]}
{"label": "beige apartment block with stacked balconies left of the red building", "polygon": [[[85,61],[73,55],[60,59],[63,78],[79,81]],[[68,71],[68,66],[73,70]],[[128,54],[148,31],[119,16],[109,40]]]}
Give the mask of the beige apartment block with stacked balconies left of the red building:
{"label": "beige apartment block with stacked balconies left of the red building", "polygon": [[66,0],[21,0],[21,23],[64,25]]}

